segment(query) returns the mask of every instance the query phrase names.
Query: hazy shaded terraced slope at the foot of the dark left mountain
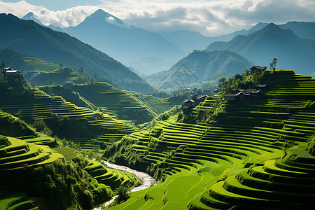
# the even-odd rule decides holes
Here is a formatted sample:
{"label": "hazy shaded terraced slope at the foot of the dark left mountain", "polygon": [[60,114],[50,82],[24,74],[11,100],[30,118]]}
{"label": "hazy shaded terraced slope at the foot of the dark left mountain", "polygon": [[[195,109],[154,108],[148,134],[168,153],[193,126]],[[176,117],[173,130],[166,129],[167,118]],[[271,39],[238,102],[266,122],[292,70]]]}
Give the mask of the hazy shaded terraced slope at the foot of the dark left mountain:
{"label": "hazy shaded terraced slope at the foot of the dark left mountain", "polygon": [[101,111],[112,118],[134,120],[137,124],[146,123],[153,119],[152,112],[146,109],[139,100],[127,92],[99,82],[90,85],[74,85],[73,90],[82,97],[101,108]]}

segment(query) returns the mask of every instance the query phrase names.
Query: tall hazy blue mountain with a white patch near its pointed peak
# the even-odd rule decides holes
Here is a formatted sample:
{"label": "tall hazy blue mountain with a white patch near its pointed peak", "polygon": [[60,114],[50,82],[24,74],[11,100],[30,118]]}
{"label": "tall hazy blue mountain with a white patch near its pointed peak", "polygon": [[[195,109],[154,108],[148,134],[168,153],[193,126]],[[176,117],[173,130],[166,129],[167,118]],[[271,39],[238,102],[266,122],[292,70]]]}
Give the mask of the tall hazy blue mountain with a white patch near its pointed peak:
{"label": "tall hazy blue mountain with a white patch near its pointed peak", "polygon": [[162,36],[127,25],[101,9],[76,27],[68,27],[64,31],[124,64],[143,57],[156,57],[174,63],[186,55]]}

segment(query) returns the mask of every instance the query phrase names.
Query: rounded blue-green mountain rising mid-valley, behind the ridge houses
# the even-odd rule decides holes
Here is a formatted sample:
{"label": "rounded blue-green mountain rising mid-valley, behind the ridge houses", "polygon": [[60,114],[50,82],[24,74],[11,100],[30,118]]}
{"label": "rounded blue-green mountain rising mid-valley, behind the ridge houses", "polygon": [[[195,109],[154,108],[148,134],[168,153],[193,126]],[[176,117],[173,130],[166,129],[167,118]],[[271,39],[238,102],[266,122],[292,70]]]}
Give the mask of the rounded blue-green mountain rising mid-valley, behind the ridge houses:
{"label": "rounded blue-green mountain rising mid-valley, behind the ridge houses", "polygon": [[182,89],[193,83],[215,80],[219,76],[234,76],[251,66],[253,63],[248,59],[228,50],[194,50],[169,71],[155,73],[146,79],[160,90]]}

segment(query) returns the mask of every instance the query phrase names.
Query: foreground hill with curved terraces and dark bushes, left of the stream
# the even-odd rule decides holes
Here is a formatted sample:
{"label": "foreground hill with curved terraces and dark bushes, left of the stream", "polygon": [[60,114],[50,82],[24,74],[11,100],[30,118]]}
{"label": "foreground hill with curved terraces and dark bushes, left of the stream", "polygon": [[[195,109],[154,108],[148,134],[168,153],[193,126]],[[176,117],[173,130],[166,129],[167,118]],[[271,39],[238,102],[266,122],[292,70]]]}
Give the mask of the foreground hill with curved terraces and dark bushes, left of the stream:
{"label": "foreground hill with curved terraces and dark bushes, left of the stream", "polygon": [[[11,117],[1,112],[1,127],[25,126]],[[32,132],[31,127],[25,130]],[[16,130],[15,134],[25,134],[25,131]],[[37,135],[34,131],[33,134]],[[53,141],[51,137],[0,135],[0,209],[64,209],[73,206],[71,202],[75,200],[78,205],[74,205],[74,209],[90,209],[94,204],[109,200],[119,186],[131,188],[139,183],[133,174],[87,160],[74,148],[45,146]],[[73,192],[67,192],[74,183]],[[49,202],[52,196],[59,197],[57,204]]]}

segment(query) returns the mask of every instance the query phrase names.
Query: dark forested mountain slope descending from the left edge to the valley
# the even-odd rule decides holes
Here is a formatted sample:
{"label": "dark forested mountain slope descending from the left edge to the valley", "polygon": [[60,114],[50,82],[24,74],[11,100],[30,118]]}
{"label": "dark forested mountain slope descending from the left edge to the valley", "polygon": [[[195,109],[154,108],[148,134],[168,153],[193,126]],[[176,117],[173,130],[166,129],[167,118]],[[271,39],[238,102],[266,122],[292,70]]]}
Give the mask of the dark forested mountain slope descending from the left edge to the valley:
{"label": "dark forested mountain slope descending from the left edge to the valley", "polygon": [[33,21],[20,20],[11,14],[0,14],[0,25],[8,31],[0,34],[0,45],[5,48],[51,62],[62,62],[66,66],[83,67],[91,78],[118,83],[125,90],[153,91],[137,73],[68,34]]}

